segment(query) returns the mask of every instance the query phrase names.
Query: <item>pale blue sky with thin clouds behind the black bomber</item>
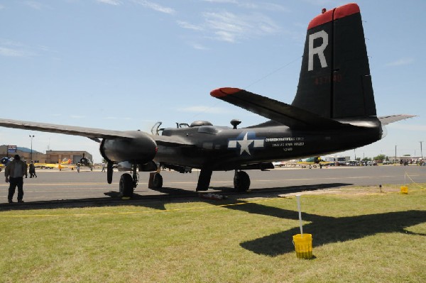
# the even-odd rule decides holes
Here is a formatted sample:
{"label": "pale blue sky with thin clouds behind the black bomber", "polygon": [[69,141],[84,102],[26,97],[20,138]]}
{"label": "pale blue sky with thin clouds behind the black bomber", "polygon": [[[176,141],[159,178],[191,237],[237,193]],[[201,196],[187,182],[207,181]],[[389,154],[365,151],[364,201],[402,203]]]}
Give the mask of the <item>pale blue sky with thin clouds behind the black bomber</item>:
{"label": "pale blue sky with thin clouds behind the black bomber", "polygon": [[[209,95],[291,103],[309,21],[344,1],[0,0],[1,118],[149,131],[156,121],[266,121]],[[426,1],[358,1],[379,116],[418,115],[357,157],[426,155]],[[87,150],[84,137],[0,128],[0,145]],[[343,152],[354,157],[354,150]]]}

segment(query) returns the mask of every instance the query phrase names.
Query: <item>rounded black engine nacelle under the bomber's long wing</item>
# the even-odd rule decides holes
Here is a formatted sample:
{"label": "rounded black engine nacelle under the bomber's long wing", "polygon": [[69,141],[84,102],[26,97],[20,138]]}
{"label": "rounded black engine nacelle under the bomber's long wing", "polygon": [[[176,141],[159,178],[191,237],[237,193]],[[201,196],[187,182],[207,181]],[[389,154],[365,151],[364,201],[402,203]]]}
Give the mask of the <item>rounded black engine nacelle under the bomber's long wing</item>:
{"label": "rounded black engine nacelle under the bomber's long wing", "polygon": [[102,157],[111,162],[130,161],[145,164],[154,159],[157,144],[150,135],[141,131],[131,131],[133,138],[115,138],[102,140]]}

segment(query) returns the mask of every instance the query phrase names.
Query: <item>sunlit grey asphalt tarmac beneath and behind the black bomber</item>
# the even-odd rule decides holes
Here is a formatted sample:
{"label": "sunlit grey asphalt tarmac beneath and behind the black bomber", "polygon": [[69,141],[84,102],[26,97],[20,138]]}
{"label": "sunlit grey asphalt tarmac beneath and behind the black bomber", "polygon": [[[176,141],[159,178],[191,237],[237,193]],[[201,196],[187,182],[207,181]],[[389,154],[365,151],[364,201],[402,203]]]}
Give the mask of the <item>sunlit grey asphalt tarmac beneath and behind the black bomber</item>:
{"label": "sunlit grey asphalt tarmac beneath and behind the black bomber", "polygon": [[[426,167],[410,166],[368,166],[368,167],[323,167],[322,169],[275,169],[269,171],[247,171],[251,178],[251,192],[285,194],[315,189],[332,189],[346,186],[379,186],[380,184],[426,183]],[[0,209],[9,206],[37,204],[72,204],[85,202],[122,202],[119,197],[119,179],[124,172],[114,172],[112,184],[107,183],[107,174],[100,170],[38,170],[37,178],[24,179],[25,204],[7,204],[9,183],[4,182],[0,173]],[[405,177],[405,173],[410,177]],[[180,174],[163,171],[163,188],[148,189],[149,173],[138,172],[139,184],[133,200],[180,198],[197,196],[195,187],[199,172]],[[207,192],[235,194],[233,191],[234,172],[213,172],[210,189]],[[13,198],[16,201],[17,192]]]}

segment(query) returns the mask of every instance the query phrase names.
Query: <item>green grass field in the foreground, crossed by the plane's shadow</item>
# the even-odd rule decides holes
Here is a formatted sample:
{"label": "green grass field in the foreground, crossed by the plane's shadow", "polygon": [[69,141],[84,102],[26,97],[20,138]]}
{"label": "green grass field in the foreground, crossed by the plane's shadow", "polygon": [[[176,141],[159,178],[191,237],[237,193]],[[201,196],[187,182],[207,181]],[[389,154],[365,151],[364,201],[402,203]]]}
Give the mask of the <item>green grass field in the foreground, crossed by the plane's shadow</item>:
{"label": "green grass field in the foreground, crossed by the plane's shadow", "polygon": [[3,211],[0,282],[426,282],[415,188],[302,196],[312,260],[294,198]]}

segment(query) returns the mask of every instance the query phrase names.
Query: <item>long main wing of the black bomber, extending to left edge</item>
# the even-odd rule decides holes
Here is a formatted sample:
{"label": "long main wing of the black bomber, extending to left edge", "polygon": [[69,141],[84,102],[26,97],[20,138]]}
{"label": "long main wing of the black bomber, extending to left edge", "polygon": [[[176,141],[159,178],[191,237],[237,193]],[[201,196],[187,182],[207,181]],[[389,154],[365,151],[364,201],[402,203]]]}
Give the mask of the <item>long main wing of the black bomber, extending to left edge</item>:
{"label": "long main wing of the black bomber, extending to left edge", "polygon": [[138,138],[140,135],[148,135],[158,145],[192,145],[184,138],[168,137],[164,135],[150,135],[141,131],[112,131],[100,128],[86,128],[79,126],[67,126],[51,123],[38,123],[32,121],[18,121],[10,119],[1,119],[0,126],[6,128],[19,128],[23,130],[33,130],[48,133],[62,133],[65,135],[80,135],[99,142],[99,138],[115,139],[115,138]]}

